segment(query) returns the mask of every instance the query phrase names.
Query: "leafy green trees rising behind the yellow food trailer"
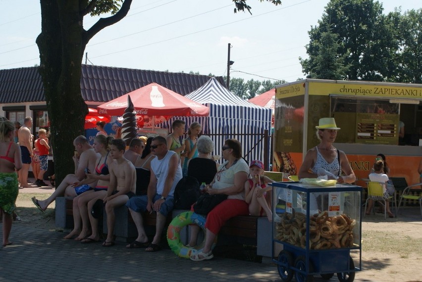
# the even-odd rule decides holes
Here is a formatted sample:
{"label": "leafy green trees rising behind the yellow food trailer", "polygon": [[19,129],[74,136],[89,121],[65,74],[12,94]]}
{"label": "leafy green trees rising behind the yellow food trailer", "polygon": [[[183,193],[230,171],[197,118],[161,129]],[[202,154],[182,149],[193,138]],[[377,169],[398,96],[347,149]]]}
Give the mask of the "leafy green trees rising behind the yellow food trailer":
{"label": "leafy green trees rising behind the yellow food trailer", "polygon": [[309,31],[303,72],[312,78],[421,83],[422,10],[382,10],[374,0],[330,0]]}

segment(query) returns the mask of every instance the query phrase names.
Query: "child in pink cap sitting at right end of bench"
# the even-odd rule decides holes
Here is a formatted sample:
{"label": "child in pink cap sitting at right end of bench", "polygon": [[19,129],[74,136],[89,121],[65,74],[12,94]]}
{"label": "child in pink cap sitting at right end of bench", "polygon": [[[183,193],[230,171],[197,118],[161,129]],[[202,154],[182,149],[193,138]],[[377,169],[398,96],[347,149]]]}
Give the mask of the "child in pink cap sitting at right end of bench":
{"label": "child in pink cap sitting at right end of bench", "polygon": [[254,216],[264,216],[272,222],[271,197],[266,191],[272,189],[267,186],[273,180],[264,176],[264,164],[260,160],[253,160],[249,166],[252,179],[245,182],[245,201],[249,204],[249,212]]}

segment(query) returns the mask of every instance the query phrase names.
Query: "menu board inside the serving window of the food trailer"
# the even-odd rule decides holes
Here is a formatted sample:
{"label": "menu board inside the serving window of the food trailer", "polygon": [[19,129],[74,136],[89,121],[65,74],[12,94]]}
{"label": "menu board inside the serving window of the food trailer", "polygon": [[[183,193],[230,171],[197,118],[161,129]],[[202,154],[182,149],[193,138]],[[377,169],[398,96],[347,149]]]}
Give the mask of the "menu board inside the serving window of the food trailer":
{"label": "menu board inside the serving window of the food trailer", "polygon": [[357,113],[356,143],[397,145],[399,115]]}

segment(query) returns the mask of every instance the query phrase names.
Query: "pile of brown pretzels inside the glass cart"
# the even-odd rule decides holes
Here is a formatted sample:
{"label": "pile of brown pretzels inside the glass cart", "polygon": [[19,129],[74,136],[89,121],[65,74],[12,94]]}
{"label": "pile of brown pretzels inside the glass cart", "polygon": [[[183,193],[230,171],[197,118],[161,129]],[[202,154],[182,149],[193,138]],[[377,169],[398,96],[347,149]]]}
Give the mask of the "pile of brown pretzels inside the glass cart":
{"label": "pile of brown pretzels inside the glass cart", "polygon": [[[310,249],[335,249],[353,246],[356,220],[348,215],[328,216],[327,211],[314,214],[309,221]],[[277,240],[306,247],[306,216],[284,213],[276,225]]]}

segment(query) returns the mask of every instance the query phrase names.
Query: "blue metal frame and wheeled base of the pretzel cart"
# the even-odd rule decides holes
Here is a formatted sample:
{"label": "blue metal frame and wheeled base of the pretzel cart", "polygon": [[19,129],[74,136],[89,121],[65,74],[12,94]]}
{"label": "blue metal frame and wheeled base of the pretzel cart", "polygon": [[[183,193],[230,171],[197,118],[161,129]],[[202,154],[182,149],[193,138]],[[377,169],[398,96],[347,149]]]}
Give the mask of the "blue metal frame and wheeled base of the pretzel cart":
{"label": "blue metal frame and wheeled base of the pretzel cart", "polygon": [[[274,199],[278,198],[275,197],[277,188],[287,188],[306,193],[307,201],[309,201],[310,199],[310,194],[314,192],[318,193],[359,191],[359,203],[362,202],[362,187],[354,185],[337,184],[335,187],[304,187],[298,182],[274,182],[272,183],[272,186]],[[360,204],[357,208],[359,208],[359,218],[356,218],[356,220],[359,221],[359,246],[354,247],[324,250],[311,249],[309,228],[310,204],[308,202],[306,205],[306,248],[295,246],[288,242],[274,238],[275,224],[273,224],[273,255],[275,245],[274,243],[283,245],[283,250],[279,253],[278,258],[273,259],[273,262],[277,264],[281,280],[283,282],[289,282],[293,278],[293,275],[295,275],[297,282],[310,282],[313,280],[313,275],[319,274],[324,279],[330,279],[334,275],[334,273],[337,273],[337,277],[340,282],[352,282],[355,278],[355,272],[362,270],[362,217]],[[273,217],[275,217],[275,214],[276,213],[274,212]],[[359,250],[359,263],[357,267],[355,267],[354,261],[350,256],[351,250]]]}

